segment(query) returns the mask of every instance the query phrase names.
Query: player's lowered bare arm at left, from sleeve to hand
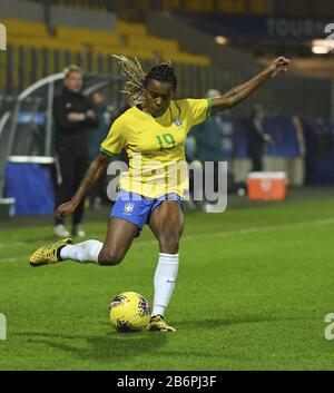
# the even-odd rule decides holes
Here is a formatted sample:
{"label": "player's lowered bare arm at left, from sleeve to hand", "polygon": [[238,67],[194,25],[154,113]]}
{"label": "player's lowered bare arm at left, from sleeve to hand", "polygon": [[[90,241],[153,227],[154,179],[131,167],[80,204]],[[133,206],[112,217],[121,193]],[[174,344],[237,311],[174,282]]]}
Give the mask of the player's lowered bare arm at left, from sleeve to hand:
{"label": "player's lowered bare arm at left, from sleeve to hand", "polygon": [[59,218],[65,218],[69,215],[71,215],[79,203],[82,200],[82,198],[86,196],[90,187],[101,177],[104,171],[106,170],[107,165],[110,163],[111,158],[99,154],[89,165],[88,169],[86,170],[86,174],[84,175],[84,178],[76,191],[76,194],[72,196],[71,200],[61,204],[58,206],[56,210],[56,215]]}

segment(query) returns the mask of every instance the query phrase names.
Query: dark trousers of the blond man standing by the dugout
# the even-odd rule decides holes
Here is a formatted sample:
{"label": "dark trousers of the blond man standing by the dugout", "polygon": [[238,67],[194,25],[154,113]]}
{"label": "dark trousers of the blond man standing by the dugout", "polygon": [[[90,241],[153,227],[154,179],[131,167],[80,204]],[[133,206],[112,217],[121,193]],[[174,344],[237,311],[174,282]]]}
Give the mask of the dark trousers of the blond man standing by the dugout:
{"label": "dark trousers of the blond man standing by the dugout", "polygon": [[[87,149],[72,146],[58,146],[57,156],[59,161],[59,170],[61,174],[61,184],[55,184],[56,208],[70,200],[76,193],[79,184],[89,165],[89,155]],[[56,176],[57,178],[57,176]],[[78,205],[72,215],[72,225],[82,222],[85,210],[85,199]],[[55,224],[63,224],[63,219],[55,217]]]}

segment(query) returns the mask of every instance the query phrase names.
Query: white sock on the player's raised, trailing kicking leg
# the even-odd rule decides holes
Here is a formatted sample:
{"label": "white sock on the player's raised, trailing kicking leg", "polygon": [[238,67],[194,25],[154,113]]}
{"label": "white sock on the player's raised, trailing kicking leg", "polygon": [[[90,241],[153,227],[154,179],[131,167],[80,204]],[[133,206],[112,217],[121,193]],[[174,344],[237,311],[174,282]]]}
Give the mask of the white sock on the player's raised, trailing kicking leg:
{"label": "white sock on the player's raised, trailing kicking leg", "polygon": [[73,259],[81,263],[96,262],[104,243],[99,240],[86,240],[82,243],[65,246],[60,249],[61,259]]}

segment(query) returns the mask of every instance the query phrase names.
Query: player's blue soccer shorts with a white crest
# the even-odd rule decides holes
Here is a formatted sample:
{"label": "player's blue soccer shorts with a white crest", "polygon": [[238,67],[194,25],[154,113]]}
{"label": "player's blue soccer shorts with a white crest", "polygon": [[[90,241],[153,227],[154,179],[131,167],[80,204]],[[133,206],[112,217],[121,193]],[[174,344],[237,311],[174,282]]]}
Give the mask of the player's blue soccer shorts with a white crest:
{"label": "player's blue soccer shorts with a white crest", "polygon": [[125,219],[137,225],[139,230],[141,230],[144,225],[149,222],[153,210],[166,199],[175,200],[181,206],[180,196],[174,193],[155,199],[121,189],[117,194],[110,217]]}

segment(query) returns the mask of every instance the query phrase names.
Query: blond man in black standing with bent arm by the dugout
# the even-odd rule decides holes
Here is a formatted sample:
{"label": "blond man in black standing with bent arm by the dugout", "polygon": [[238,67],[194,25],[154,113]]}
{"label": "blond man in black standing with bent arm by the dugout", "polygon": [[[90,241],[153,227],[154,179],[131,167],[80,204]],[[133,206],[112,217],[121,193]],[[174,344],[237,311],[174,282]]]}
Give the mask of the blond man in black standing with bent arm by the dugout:
{"label": "blond man in black standing with bent arm by the dugout", "polygon": [[[65,70],[63,89],[55,97],[53,118],[56,129],[56,154],[60,176],[56,185],[56,206],[69,200],[89,165],[87,129],[97,126],[94,104],[81,94],[82,71],[77,66]],[[81,222],[85,200],[72,217],[72,235],[84,236]],[[69,236],[63,219],[55,218],[55,235]]]}

